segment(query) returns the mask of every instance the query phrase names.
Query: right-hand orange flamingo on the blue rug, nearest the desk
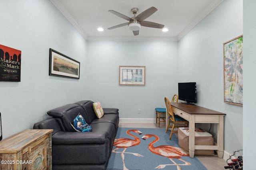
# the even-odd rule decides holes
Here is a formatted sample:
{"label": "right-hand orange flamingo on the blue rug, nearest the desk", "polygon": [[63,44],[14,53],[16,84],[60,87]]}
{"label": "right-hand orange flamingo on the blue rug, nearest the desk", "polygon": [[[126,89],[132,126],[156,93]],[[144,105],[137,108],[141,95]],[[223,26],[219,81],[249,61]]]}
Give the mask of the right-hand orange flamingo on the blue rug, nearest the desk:
{"label": "right-hand orange flamingo on the blue rug, nearest the desk", "polygon": [[[169,158],[174,163],[174,164],[161,164],[161,165],[158,165],[156,168],[160,169],[160,168],[164,168],[165,166],[168,166],[168,165],[169,166],[176,165],[177,170],[181,170],[180,165],[183,165],[183,166],[191,165],[189,162],[182,160],[181,156],[188,156],[188,154],[186,154],[186,152],[184,152],[182,149],[180,149],[178,147],[173,147],[173,146],[169,146],[169,145],[160,145],[158,147],[154,147],[153,146],[154,143],[159,141],[158,136],[146,134],[146,135],[143,135],[142,139],[146,140],[147,138],[150,138],[150,137],[155,137],[155,140],[148,144],[148,149],[150,150],[150,152],[152,152],[154,154],[158,154],[160,156],[165,156],[165,157]],[[181,160],[185,164],[177,164],[176,162],[174,162],[173,158]]]}

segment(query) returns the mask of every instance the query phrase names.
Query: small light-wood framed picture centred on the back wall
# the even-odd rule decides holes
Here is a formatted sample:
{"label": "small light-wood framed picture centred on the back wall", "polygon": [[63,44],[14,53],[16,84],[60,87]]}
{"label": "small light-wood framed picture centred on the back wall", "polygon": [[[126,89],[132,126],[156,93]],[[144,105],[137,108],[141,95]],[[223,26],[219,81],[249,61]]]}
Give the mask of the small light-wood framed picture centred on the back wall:
{"label": "small light-wood framed picture centred on the back wall", "polygon": [[119,85],[145,86],[146,66],[119,66]]}

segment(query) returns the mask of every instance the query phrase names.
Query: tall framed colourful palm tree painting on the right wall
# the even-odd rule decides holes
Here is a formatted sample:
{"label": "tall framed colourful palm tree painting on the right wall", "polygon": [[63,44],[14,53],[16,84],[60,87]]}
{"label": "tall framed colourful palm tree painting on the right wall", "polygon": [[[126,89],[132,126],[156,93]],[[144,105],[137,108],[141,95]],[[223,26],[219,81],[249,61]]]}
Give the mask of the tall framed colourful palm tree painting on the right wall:
{"label": "tall framed colourful palm tree painting on the right wall", "polygon": [[243,104],[243,35],[223,43],[224,102]]}

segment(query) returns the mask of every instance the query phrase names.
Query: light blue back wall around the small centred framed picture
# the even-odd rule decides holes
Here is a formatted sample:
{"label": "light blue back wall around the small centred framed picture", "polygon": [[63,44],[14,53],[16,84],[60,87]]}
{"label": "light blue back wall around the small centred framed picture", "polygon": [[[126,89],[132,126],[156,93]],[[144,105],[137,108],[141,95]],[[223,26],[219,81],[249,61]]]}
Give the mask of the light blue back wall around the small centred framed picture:
{"label": "light blue back wall around the small centred framed picture", "polygon": [[[177,45],[175,41],[88,41],[88,97],[102,107],[118,108],[120,118],[153,119],[154,108],[165,107],[164,97],[177,92]],[[119,86],[119,66],[146,66],[146,86]]]}

